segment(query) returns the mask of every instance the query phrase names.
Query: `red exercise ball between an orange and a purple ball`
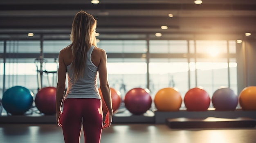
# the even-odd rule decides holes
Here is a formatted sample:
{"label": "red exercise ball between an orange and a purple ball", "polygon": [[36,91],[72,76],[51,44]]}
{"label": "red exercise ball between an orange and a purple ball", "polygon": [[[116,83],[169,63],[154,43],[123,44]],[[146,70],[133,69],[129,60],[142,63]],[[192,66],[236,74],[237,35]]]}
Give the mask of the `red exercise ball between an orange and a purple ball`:
{"label": "red exercise ball between an orange and a purple ball", "polygon": [[202,88],[191,88],[184,96],[184,104],[188,111],[207,111],[210,97]]}

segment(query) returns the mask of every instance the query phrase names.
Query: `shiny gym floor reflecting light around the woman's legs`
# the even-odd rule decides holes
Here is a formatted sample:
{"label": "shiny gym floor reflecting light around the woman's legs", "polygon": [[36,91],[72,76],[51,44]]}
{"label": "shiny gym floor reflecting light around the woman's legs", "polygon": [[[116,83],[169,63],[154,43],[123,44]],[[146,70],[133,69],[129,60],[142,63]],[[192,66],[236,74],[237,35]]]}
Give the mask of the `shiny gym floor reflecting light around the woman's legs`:
{"label": "shiny gym floor reflecting light around the woman's legs", "polygon": [[[83,134],[83,132],[82,132]],[[81,135],[81,142],[83,136]],[[101,143],[255,143],[256,128],[171,129],[166,124],[112,124]],[[55,124],[0,124],[0,143],[64,143]]]}

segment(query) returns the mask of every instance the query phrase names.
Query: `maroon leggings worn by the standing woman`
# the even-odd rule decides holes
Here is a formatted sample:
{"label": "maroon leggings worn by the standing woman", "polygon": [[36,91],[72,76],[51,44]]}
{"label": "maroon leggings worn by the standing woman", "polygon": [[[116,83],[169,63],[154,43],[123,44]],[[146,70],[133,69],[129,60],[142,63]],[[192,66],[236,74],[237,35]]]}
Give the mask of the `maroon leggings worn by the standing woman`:
{"label": "maroon leggings worn by the standing woman", "polygon": [[65,143],[79,143],[82,124],[85,143],[100,142],[103,124],[100,99],[65,99],[61,118]]}

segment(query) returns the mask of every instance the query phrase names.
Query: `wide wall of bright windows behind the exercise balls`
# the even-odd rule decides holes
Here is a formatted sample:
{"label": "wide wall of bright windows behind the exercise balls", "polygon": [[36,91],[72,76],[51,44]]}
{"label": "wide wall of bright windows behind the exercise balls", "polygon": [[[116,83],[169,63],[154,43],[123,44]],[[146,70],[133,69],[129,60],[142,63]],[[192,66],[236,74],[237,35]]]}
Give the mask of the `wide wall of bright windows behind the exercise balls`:
{"label": "wide wall of bright windows behind the exercise balls", "polygon": [[[149,45],[147,43],[149,42]],[[152,98],[162,88],[175,87],[182,98],[190,88],[202,86],[210,95],[220,86],[237,94],[236,42],[219,40],[101,40],[97,46],[108,55],[110,86],[122,97],[132,88],[149,88]],[[38,88],[40,41],[6,41],[5,89]],[[44,71],[57,71],[58,53],[70,40],[43,41]],[[148,47],[149,46],[149,47]],[[4,42],[0,42],[0,52]],[[0,59],[0,89],[4,60]],[[43,73],[44,86],[55,86],[56,74]],[[2,94],[2,92],[1,92]],[[0,95],[2,96],[2,95]]]}

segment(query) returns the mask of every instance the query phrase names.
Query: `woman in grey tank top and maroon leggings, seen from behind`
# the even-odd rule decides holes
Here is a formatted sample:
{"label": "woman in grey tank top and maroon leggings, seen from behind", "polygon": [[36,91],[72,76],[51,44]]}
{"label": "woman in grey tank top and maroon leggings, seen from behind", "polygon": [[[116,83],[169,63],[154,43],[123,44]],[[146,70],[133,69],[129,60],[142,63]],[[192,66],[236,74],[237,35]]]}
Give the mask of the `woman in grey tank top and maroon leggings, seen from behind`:
{"label": "woman in grey tank top and maroon leggings, seen from behind", "polygon": [[[81,125],[85,143],[99,143],[101,130],[112,122],[112,101],[107,76],[106,52],[96,47],[97,21],[85,11],[76,13],[70,40],[58,57],[58,83],[56,89],[56,123],[62,127],[65,143],[79,143]],[[64,100],[67,73],[67,92]],[[108,113],[103,125],[100,88]],[[61,105],[63,101],[63,112]]]}

